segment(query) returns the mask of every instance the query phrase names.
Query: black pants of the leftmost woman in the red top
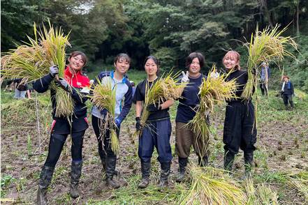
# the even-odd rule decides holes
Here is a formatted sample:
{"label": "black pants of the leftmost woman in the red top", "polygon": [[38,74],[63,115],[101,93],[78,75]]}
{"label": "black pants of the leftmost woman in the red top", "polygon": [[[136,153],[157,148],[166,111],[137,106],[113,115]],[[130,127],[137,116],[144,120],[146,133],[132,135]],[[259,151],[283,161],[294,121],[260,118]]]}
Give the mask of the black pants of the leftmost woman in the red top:
{"label": "black pants of the leftmost woman in the red top", "polygon": [[[82,161],[83,135],[85,135],[85,130],[71,133],[72,137],[71,155],[73,162]],[[60,158],[64,143],[66,142],[67,136],[68,134],[58,134],[52,132],[52,134],[50,135],[48,155],[44,166],[46,167],[56,166],[57,161]]]}

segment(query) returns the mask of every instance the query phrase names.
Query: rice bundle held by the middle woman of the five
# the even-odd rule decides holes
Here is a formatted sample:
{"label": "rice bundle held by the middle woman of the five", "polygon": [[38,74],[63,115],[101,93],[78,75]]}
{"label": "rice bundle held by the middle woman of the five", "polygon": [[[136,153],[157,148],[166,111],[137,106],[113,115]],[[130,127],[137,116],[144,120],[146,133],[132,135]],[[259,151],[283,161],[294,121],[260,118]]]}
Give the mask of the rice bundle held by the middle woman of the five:
{"label": "rice bundle held by the middle woman of the five", "polygon": [[[181,97],[181,91],[186,86],[186,83],[177,82],[179,73],[173,74],[172,71],[166,75],[163,75],[156,80],[151,87],[146,87],[145,102],[143,104],[144,109],[140,117],[140,123],[142,128],[147,126],[146,121],[149,117],[149,112],[146,107],[151,104],[160,105],[166,100],[174,100]],[[136,131],[134,136],[140,136],[141,131]]]}

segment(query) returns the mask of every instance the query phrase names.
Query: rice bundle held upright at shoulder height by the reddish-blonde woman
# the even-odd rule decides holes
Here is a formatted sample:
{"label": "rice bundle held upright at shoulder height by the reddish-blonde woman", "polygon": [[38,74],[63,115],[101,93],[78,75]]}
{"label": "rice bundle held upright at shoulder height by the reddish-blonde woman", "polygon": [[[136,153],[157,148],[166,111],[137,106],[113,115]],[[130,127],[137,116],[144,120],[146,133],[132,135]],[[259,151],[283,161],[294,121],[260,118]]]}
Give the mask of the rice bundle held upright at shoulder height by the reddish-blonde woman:
{"label": "rice bundle held upright at shoulder height by the reddish-blonde woman", "polygon": [[254,88],[258,88],[258,66],[262,62],[269,61],[280,61],[284,59],[284,56],[295,56],[288,52],[286,49],[288,46],[297,49],[297,44],[290,36],[281,36],[286,28],[281,31],[278,30],[279,25],[265,28],[263,31],[258,31],[256,33],[251,33],[250,43],[246,43],[245,46],[249,51],[248,62],[247,62],[247,72],[248,72],[248,82],[244,87],[242,93],[242,98],[251,99],[253,95]]}

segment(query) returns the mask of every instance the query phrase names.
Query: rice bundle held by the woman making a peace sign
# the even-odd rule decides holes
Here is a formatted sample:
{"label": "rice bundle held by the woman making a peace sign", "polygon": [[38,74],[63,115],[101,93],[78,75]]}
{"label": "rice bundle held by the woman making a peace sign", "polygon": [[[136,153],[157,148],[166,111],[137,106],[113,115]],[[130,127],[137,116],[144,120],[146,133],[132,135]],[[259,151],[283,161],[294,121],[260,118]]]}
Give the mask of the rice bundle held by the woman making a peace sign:
{"label": "rice bundle held by the woman making a peace sign", "polygon": [[[215,65],[212,66],[210,73],[215,73]],[[200,155],[207,153],[207,145],[210,139],[210,126],[205,120],[205,117],[214,111],[215,105],[221,105],[226,100],[236,98],[235,90],[236,84],[235,79],[226,82],[228,74],[221,74],[217,77],[211,77],[211,74],[203,79],[200,85],[200,91],[198,93],[200,98],[200,105],[196,111],[196,115],[186,126],[189,126],[193,133],[196,135],[197,146],[202,148],[199,149]],[[198,143],[202,143],[198,144]]]}

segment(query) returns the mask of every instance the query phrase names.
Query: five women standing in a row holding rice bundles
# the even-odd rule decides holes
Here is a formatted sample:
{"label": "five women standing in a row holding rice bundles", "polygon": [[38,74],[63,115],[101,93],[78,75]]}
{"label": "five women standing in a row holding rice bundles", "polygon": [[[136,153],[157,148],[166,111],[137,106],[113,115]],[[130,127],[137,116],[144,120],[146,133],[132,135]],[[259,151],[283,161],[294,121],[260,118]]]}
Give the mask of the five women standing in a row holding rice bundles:
{"label": "five women standing in a row holding rice bundles", "polygon": [[[68,57],[68,66],[66,66],[63,79],[57,80],[56,75],[59,73],[57,66],[50,67],[50,73],[41,79],[34,82],[34,89],[39,93],[43,93],[50,88],[50,83],[54,81],[59,87],[65,89],[71,94],[74,100],[74,113],[72,116],[55,116],[57,98],[55,91],[50,89],[52,99],[52,131],[50,135],[50,144],[47,154],[47,159],[43,165],[41,176],[38,184],[37,203],[46,204],[46,192],[52,180],[54,167],[59,160],[61,150],[68,135],[71,135],[71,197],[80,196],[78,183],[82,170],[82,143],[85,130],[88,128],[87,108],[85,101],[88,99],[89,79],[82,74],[82,68],[87,63],[87,57],[82,52],[72,52]],[[126,72],[129,70],[131,59],[127,54],[118,54],[115,57],[115,70],[111,73],[102,72],[96,77],[94,85],[97,81],[102,84],[111,82],[112,89],[116,89],[116,105],[115,116],[113,116],[117,126],[117,137],[122,121],[131,109],[132,102],[135,103],[135,128],[142,130],[139,137],[138,155],[141,162],[142,180],[139,183],[139,188],[146,188],[149,185],[149,174],[151,169],[151,158],[156,147],[159,155],[158,160],[161,164],[161,176],[159,187],[164,188],[168,185],[168,176],[170,174],[170,165],[173,155],[170,147],[171,122],[168,109],[174,104],[174,100],[165,100],[157,104],[147,105],[143,107],[146,93],[156,83],[159,74],[159,60],[154,56],[148,56],[145,59],[145,72],[147,79],[140,82],[135,94],[132,96],[132,86],[129,79],[126,77]],[[199,104],[199,86],[205,78],[200,73],[203,68],[205,59],[203,54],[193,52],[186,59],[186,74],[180,79],[181,82],[188,83],[182,89],[182,98],[179,98],[177,107],[175,140],[176,153],[179,160],[179,175],[177,182],[184,179],[184,173],[189,158],[191,145],[193,145],[200,166],[206,166],[208,162],[208,153],[201,154],[200,150],[207,149],[201,146],[207,146],[203,143],[196,142],[195,133],[185,126],[196,114],[196,109]],[[235,51],[228,52],[223,57],[223,65],[226,72],[229,73],[226,80],[235,79],[239,86],[237,87],[236,96],[238,98],[230,100],[226,107],[226,119],[223,128],[223,142],[225,144],[224,168],[231,170],[235,154],[239,148],[244,151],[244,162],[247,167],[247,172],[251,169],[253,160],[254,143],[256,142],[256,128],[254,127],[254,106],[251,100],[243,100],[240,98],[244,85],[247,83],[247,73],[240,68],[240,54]],[[68,89],[68,86],[71,89]],[[81,93],[81,97],[80,97]],[[124,103],[122,103],[124,101]],[[147,126],[142,127],[140,116],[142,110],[149,111]],[[99,109],[95,105],[92,108],[92,126],[98,140],[98,153],[101,158],[103,169],[105,170],[106,185],[110,188],[119,188],[119,183],[113,179],[118,171],[115,169],[117,155],[112,151],[110,146],[109,130],[101,129],[101,126],[106,123],[107,109]],[[208,121],[207,116],[205,120]]]}

